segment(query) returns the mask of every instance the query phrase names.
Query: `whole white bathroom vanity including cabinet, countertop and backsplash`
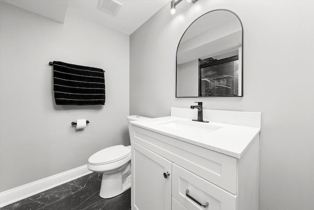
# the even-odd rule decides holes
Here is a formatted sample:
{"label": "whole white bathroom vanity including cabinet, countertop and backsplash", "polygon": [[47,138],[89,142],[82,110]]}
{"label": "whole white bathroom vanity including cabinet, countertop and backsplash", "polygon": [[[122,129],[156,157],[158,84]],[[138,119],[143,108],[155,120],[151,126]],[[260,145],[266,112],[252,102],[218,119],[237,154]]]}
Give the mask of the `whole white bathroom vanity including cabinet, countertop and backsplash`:
{"label": "whole white bathroom vanity including cabinet, countertop and backsplash", "polygon": [[131,122],[132,210],[257,210],[261,113],[171,108]]}

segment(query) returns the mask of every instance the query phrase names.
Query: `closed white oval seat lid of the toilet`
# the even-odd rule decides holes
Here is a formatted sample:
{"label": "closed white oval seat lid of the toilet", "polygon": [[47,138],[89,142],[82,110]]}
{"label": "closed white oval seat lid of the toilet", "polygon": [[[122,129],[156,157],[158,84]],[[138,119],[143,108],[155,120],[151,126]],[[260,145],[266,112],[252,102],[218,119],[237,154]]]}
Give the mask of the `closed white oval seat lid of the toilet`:
{"label": "closed white oval seat lid of the toilet", "polygon": [[88,163],[92,165],[113,163],[128,157],[130,154],[130,148],[123,145],[116,145],[96,152],[88,158]]}

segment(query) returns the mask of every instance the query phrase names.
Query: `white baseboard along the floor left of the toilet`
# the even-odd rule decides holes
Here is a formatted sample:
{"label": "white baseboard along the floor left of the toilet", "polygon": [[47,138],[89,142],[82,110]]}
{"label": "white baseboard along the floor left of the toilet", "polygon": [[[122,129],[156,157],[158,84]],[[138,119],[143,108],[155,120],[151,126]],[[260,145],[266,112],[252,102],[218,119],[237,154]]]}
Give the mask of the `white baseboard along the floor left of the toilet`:
{"label": "white baseboard along the floor left of the toilet", "polygon": [[42,180],[0,192],[0,208],[91,173],[93,172],[88,170],[87,165],[83,165]]}

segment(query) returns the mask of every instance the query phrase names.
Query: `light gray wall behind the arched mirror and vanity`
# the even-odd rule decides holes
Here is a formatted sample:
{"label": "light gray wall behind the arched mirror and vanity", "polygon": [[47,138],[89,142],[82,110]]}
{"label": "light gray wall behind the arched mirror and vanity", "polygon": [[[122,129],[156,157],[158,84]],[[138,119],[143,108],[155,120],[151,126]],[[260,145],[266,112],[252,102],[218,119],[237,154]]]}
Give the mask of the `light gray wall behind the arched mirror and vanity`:
{"label": "light gray wall behind the arched mirror and vanity", "polygon": [[[176,50],[189,24],[234,11],[244,28],[244,97],[175,98]],[[206,109],[262,112],[260,210],[314,206],[314,1],[182,1],[130,37],[130,114],[162,117],[203,101]]]}

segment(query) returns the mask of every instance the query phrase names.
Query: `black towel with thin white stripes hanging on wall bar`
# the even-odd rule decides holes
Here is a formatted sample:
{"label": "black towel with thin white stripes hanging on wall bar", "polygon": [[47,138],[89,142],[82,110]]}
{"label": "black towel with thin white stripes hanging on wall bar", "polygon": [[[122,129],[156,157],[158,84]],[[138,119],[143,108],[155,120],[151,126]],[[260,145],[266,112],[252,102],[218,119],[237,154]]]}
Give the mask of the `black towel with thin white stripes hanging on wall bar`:
{"label": "black towel with thin white stripes hanging on wall bar", "polygon": [[104,70],[53,61],[53,90],[57,105],[104,105]]}

